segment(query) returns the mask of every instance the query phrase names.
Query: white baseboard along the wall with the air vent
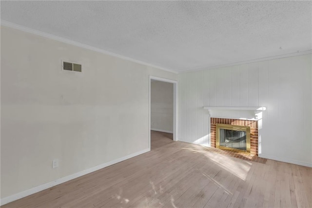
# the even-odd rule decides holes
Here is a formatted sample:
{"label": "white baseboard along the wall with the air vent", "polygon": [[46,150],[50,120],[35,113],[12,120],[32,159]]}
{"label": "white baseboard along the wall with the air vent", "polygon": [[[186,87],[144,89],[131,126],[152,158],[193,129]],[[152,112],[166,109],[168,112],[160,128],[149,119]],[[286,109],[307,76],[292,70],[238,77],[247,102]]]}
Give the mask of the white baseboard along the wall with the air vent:
{"label": "white baseboard along the wall with the air vent", "polygon": [[5,204],[10,203],[10,202],[13,202],[13,201],[18,200],[18,199],[21,199],[21,198],[23,198],[25,196],[29,196],[31,194],[37,193],[37,192],[39,192],[41,190],[44,190],[44,189],[47,189],[47,188],[54,187],[56,185],[62,184],[64,182],[66,182],[66,181],[78,178],[78,177],[83,176],[85,174],[97,171],[97,170],[99,170],[101,168],[114,165],[116,163],[119,163],[121,161],[124,161],[124,160],[127,160],[129,158],[135,157],[137,155],[143,154],[143,153],[148,152],[150,150],[151,149],[149,149],[149,148],[148,149],[144,149],[144,150],[135,152],[133,154],[130,154],[130,155],[118,158],[116,160],[112,160],[112,161],[109,161],[107,163],[103,163],[101,165],[98,165],[98,166],[95,166],[95,167],[91,167],[91,168],[86,169],[86,170],[82,170],[80,172],[74,173],[72,175],[65,176],[63,178],[59,178],[59,179],[57,179],[55,181],[51,181],[51,182],[48,182],[46,184],[39,185],[38,187],[33,187],[33,188],[30,188],[30,189],[21,191],[21,192],[19,192],[17,194],[13,194],[11,196],[4,197],[4,198],[0,199],[0,206],[5,205]]}

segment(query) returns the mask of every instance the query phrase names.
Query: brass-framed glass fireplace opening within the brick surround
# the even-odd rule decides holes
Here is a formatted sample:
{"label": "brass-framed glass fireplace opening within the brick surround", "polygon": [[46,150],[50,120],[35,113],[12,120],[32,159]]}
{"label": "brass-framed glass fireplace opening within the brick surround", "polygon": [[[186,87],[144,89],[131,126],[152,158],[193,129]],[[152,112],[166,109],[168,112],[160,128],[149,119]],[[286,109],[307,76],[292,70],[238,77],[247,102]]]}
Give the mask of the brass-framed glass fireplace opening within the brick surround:
{"label": "brass-framed glass fireplace opening within the brick surround", "polygon": [[250,153],[250,127],[216,124],[216,148]]}

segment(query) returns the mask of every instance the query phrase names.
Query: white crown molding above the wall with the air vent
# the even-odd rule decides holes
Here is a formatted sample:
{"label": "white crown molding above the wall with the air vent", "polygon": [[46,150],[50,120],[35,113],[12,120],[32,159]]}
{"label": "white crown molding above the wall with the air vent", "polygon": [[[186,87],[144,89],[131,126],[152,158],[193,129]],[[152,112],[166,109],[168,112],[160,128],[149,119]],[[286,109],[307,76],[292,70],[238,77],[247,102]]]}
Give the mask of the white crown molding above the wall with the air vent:
{"label": "white crown molding above the wall with the air vent", "polygon": [[23,32],[31,33],[31,34],[34,34],[34,35],[38,35],[38,36],[41,36],[41,37],[48,38],[48,39],[52,39],[52,40],[55,40],[55,41],[64,42],[64,43],[71,44],[71,45],[75,45],[75,46],[78,46],[80,48],[96,51],[96,52],[99,52],[99,53],[102,53],[102,54],[105,54],[105,55],[114,56],[114,57],[117,57],[117,58],[120,58],[120,59],[123,59],[123,60],[136,62],[136,63],[143,64],[143,65],[146,65],[146,66],[150,66],[150,67],[154,67],[154,68],[157,68],[157,69],[161,69],[161,70],[164,70],[164,71],[168,71],[168,72],[171,72],[171,73],[178,74],[178,72],[176,72],[173,69],[165,68],[165,67],[162,67],[162,66],[157,66],[157,65],[150,64],[150,63],[147,63],[147,62],[142,62],[142,61],[139,61],[137,59],[133,59],[133,58],[130,58],[130,57],[127,57],[127,56],[122,56],[122,55],[119,55],[119,54],[116,54],[116,53],[113,53],[113,52],[110,52],[110,51],[106,51],[106,50],[103,50],[103,49],[100,49],[100,48],[97,48],[97,47],[94,47],[94,46],[91,46],[91,45],[88,45],[88,44],[84,44],[84,43],[81,43],[81,42],[76,42],[76,41],[72,41],[72,40],[69,40],[69,39],[66,39],[66,38],[62,38],[62,37],[59,37],[59,36],[56,36],[56,35],[52,35],[50,33],[41,32],[39,30],[35,30],[35,29],[29,28],[29,27],[25,27],[25,26],[22,26],[20,24],[16,24],[16,23],[13,23],[13,22],[10,22],[10,21],[1,20],[0,25],[1,26],[10,27],[10,28],[13,28],[13,29],[17,29],[17,30],[21,30]]}

